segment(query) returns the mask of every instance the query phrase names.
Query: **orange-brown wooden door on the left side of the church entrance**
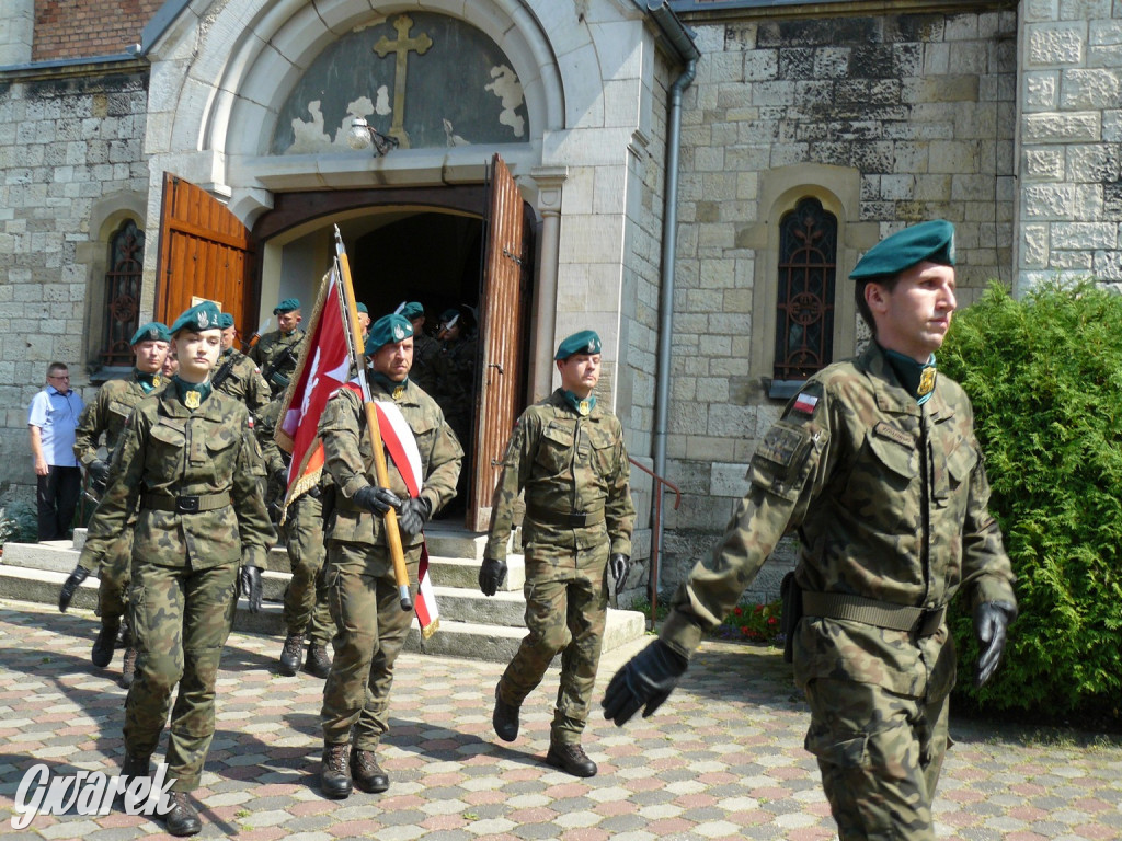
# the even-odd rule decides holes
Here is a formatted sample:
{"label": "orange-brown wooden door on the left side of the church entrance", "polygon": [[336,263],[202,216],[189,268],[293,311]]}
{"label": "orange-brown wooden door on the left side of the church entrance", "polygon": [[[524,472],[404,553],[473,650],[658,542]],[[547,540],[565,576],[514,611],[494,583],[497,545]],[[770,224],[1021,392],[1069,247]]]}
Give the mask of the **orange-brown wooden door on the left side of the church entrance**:
{"label": "orange-brown wooden door on the left side of the church entrance", "polygon": [[218,301],[246,336],[256,326],[249,230],[201,187],[164,173],[156,317],[171,324],[192,297]]}

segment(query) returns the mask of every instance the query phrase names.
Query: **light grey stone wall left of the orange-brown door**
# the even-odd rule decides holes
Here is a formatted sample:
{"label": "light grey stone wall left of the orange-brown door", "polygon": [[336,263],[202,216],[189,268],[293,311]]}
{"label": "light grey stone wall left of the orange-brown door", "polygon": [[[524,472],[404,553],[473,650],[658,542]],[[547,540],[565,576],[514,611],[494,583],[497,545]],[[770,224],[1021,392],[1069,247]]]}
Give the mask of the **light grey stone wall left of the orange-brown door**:
{"label": "light grey stone wall left of the orange-brown door", "polygon": [[[66,362],[89,399],[88,287],[104,265],[117,200],[148,187],[147,74],[90,67],[0,81],[0,497],[34,490],[27,407],[47,364]],[[135,206],[137,203],[131,201]],[[142,218],[139,218],[142,224]]]}

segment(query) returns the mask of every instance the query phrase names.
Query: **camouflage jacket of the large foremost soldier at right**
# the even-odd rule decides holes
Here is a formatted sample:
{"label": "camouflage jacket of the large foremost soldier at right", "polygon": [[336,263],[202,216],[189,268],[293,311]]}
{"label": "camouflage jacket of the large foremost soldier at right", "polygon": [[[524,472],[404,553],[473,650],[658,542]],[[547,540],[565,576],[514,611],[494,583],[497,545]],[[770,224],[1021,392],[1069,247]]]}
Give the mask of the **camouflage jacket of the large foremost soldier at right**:
{"label": "camouflage jacket of the large foremost soldier at right", "polygon": [[[1015,603],[969,399],[939,376],[918,406],[875,342],[807,382],[756,449],[747,479],[710,562],[693,567],[663,626],[682,654],[733,608],[789,528],[799,533],[804,591],[938,608],[966,586],[973,603]],[[917,639],[808,617],[793,641],[799,685],[845,676],[914,696],[955,680],[946,623]]]}

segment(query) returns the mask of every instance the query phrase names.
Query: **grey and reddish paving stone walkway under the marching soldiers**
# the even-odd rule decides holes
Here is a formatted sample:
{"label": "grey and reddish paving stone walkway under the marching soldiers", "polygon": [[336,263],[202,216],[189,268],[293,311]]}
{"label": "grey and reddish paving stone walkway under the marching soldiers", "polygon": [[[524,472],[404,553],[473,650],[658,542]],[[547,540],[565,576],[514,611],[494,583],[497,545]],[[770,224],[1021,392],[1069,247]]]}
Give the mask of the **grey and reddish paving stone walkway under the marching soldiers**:
{"label": "grey and reddish paving stone walkway under the marching soldiers", "polygon": [[[0,839],[125,841],[157,834],[142,816],[39,815],[11,826],[20,780],[114,774],[123,750],[120,653],[90,665],[95,618],[0,602]],[[642,643],[604,658],[597,700]],[[275,673],[280,640],[234,632],[223,655],[218,728],[202,787],[200,838],[378,841],[432,839],[833,839],[804,703],[776,651],[707,643],[651,719],[619,730],[599,713],[585,746],[591,779],[542,761],[557,673],[523,709],[522,734],[490,727],[494,663],[403,655],[392,732],[380,752],[390,788],[321,797],[322,682]],[[971,841],[1122,839],[1122,740],[953,722],[936,802],[940,838]],[[157,757],[159,759],[159,757]]]}

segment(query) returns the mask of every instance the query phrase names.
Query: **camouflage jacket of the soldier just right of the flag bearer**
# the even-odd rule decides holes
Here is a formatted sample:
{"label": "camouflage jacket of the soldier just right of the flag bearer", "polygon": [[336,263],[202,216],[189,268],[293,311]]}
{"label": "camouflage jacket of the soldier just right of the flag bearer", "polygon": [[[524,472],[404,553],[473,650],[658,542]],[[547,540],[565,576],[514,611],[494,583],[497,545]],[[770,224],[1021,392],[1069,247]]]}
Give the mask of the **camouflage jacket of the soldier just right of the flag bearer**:
{"label": "camouflage jacket of the soldier just right of the flag bearer", "polygon": [[[610,552],[629,556],[635,523],[629,482],[619,419],[599,406],[581,417],[558,389],[523,412],[511,434],[491,501],[486,557],[506,557],[521,491],[526,499],[524,544],[573,549],[609,540]],[[588,526],[546,521],[599,511],[604,518]]]}

